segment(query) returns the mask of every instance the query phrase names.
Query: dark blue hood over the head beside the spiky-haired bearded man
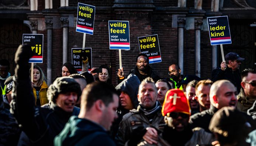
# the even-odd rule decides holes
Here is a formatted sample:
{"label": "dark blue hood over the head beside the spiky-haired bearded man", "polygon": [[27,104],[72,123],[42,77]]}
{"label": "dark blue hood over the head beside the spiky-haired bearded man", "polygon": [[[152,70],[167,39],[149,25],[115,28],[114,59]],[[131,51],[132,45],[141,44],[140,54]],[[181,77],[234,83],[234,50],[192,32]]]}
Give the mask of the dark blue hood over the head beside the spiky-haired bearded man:
{"label": "dark blue hood over the head beside the spiky-haired bearded man", "polygon": [[139,101],[137,98],[139,84],[141,84],[139,78],[134,74],[129,74],[127,79],[123,80],[120,84],[117,85],[117,87],[115,87],[117,91],[123,91],[130,96],[130,99],[134,104],[135,109],[139,105]]}

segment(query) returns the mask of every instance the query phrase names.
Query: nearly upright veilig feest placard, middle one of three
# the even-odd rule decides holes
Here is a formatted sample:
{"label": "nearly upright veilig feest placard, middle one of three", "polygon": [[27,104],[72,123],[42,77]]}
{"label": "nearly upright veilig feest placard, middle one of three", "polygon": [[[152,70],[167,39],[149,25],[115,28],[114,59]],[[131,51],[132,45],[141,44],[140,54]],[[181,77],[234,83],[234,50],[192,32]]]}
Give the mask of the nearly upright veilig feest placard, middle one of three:
{"label": "nearly upright veilig feest placard, middle one of three", "polygon": [[110,49],[130,50],[129,21],[108,21]]}

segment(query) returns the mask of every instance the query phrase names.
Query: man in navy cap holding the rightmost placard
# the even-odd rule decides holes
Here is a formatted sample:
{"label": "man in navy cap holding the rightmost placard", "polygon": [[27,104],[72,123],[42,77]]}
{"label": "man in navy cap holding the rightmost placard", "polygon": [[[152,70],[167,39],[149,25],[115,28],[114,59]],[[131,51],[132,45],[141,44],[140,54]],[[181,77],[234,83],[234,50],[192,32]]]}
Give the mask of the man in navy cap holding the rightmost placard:
{"label": "man in navy cap holding the rightmost placard", "polygon": [[241,58],[235,52],[226,54],[225,62],[221,62],[221,68],[212,70],[212,81],[229,80],[235,85],[237,91],[240,92],[242,80],[238,69],[243,60],[245,60],[245,58]]}

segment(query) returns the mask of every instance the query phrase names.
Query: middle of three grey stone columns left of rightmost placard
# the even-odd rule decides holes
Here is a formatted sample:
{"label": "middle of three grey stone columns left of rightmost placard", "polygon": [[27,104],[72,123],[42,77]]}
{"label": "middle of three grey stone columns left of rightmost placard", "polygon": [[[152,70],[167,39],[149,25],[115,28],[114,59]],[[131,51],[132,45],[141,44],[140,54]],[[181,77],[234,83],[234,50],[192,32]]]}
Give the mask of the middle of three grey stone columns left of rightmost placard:
{"label": "middle of three grey stone columns left of rightmost placard", "polygon": [[196,52],[196,76],[201,77],[201,67],[200,67],[200,29],[201,25],[203,24],[203,21],[201,18],[195,18],[195,33],[196,33],[196,46],[195,46],[195,52]]}

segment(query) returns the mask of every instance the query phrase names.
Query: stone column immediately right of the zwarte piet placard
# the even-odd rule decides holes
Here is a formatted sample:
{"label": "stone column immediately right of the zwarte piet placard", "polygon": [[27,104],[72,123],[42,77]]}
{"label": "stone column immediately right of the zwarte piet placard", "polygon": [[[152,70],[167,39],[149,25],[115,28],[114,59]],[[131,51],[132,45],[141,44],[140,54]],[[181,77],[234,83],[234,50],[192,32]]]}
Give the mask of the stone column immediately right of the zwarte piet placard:
{"label": "stone column immediately right of the zwarte piet placard", "polygon": [[52,18],[45,18],[47,28],[47,85],[52,83]]}

